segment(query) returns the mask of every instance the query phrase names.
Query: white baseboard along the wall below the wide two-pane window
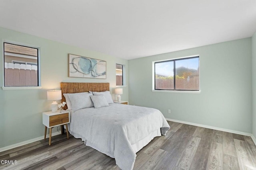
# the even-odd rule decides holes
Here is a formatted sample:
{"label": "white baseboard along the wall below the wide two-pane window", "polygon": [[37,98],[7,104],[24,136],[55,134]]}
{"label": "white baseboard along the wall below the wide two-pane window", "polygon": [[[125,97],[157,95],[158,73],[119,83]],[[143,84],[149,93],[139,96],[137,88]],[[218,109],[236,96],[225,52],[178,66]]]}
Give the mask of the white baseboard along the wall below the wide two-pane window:
{"label": "white baseboard along the wall below the wide two-pane window", "polygon": [[[208,129],[214,129],[214,130],[218,130],[218,131],[224,131],[224,132],[229,132],[229,133],[236,133],[238,135],[245,135],[245,136],[252,137],[251,133],[246,133],[246,132],[241,132],[241,131],[234,131],[234,130],[230,130],[230,129],[224,129],[224,128],[208,126],[208,125],[202,125],[202,124],[198,124],[198,123],[191,123],[191,122],[188,122],[188,121],[180,121],[180,120],[169,119],[169,118],[165,118],[165,119],[168,120],[168,121],[174,121],[174,122],[178,122],[178,123],[184,123],[184,124],[188,124],[188,125],[194,125],[194,126],[204,127],[204,128],[208,128]],[[255,143],[255,141],[254,141],[254,143]]]}

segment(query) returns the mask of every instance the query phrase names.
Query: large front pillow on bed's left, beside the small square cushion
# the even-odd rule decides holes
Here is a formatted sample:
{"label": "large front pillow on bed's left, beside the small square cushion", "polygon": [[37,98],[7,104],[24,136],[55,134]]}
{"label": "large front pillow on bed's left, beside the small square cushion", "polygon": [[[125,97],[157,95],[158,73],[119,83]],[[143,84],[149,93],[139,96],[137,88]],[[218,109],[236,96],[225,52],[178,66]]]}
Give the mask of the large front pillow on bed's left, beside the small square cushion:
{"label": "large front pillow on bed's left, beside the small square cushion", "polygon": [[83,109],[87,107],[93,107],[92,100],[90,98],[92,94],[84,92],[84,93],[68,93],[68,97],[70,98],[72,104],[72,110],[76,111],[78,109]]}

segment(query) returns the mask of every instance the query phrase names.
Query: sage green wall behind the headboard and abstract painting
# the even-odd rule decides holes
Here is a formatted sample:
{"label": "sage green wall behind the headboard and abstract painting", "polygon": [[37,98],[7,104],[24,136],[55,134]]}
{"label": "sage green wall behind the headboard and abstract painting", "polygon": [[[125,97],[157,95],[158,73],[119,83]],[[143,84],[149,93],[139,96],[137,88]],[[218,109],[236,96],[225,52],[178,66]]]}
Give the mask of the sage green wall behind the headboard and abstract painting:
{"label": "sage green wall behind the headboard and abstract painting", "polygon": [[[42,112],[49,111],[52,103],[47,101],[46,91],[60,89],[60,82],[109,82],[112,92],[116,87],[116,63],[126,66],[126,82],[128,82],[127,60],[2,27],[0,27],[0,39],[2,42],[13,41],[40,47],[42,85],[41,90],[0,89],[0,148],[44,135]],[[106,61],[107,78],[68,77],[68,53]],[[3,44],[0,45],[0,59],[3,61]],[[0,86],[3,86],[3,62],[0,62],[0,70]],[[122,100],[128,100],[128,87],[123,87],[123,93]]]}

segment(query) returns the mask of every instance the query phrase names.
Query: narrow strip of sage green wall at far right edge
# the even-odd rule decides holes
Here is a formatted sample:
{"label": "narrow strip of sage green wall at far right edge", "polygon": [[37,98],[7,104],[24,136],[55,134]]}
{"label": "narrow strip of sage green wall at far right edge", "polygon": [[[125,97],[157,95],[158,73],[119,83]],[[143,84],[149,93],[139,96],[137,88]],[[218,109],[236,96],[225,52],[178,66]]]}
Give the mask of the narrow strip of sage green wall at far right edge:
{"label": "narrow strip of sage green wall at far right edge", "polygon": [[256,32],[252,36],[252,134],[256,137]]}

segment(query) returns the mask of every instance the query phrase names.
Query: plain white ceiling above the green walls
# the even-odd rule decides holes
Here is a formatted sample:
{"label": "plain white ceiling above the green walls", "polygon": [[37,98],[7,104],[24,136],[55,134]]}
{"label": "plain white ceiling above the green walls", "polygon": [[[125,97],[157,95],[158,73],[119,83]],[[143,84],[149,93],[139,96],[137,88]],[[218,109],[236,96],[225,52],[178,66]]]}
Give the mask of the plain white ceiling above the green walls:
{"label": "plain white ceiling above the green walls", "polygon": [[256,0],[0,0],[0,27],[129,60],[251,37]]}

